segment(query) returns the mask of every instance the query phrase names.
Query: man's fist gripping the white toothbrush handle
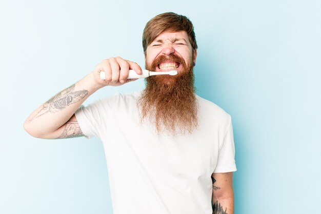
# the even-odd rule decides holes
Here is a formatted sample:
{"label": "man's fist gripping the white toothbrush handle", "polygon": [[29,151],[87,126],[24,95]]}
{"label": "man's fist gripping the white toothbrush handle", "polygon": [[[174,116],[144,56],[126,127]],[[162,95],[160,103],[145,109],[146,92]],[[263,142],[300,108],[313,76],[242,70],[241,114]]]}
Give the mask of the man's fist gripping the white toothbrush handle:
{"label": "man's fist gripping the white toothbrush handle", "polygon": [[[94,81],[100,87],[104,86],[120,86],[125,83],[137,80],[128,79],[129,70],[135,70],[137,74],[142,74],[142,68],[134,62],[124,60],[122,57],[111,57],[99,63],[93,73]],[[101,80],[100,73],[105,72],[105,80]]]}

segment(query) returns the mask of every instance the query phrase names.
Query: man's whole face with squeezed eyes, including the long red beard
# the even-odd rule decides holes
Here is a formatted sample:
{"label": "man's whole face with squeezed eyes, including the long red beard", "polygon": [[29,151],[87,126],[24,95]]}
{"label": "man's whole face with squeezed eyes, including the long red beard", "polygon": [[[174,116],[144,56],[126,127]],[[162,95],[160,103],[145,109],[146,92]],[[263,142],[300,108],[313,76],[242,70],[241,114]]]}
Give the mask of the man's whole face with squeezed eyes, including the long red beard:
{"label": "man's whole face with squeezed eyes, including the long red beard", "polygon": [[178,74],[155,75],[145,79],[146,88],[139,99],[141,121],[154,124],[158,133],[192,133],[197,127],[193,50],[185,31],[164,32],[147,47],[147,70],[177,70]]}

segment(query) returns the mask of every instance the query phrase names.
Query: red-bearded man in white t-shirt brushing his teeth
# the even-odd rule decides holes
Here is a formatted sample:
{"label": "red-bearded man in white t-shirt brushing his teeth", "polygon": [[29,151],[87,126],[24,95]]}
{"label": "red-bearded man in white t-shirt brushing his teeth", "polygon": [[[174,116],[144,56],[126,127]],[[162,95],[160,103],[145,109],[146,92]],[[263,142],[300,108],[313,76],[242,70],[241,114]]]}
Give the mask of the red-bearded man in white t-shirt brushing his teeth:
{"label": "red-bearded man in white t-shirt brushing his teeth", "polygon": [[195,95],[192,23],[175,13],[155,16],[144,29],[143,48],[146,69],[178,74],[151,76],[142,92],[81,106],[99,88],[133,81],[129,69],[142,73],[134,62],[109,58],[31,113],[25,130],[44,139],[100,138],[114,214],[232,214],[231,117]]}

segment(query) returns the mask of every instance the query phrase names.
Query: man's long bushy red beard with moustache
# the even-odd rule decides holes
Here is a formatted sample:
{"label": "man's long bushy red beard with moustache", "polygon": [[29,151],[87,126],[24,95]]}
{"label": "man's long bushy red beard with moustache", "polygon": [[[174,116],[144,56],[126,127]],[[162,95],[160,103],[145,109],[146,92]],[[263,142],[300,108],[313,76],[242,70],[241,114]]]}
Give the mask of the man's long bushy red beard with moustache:
{"label": "man's long bushy red beard with moustache", "polygon": [[[157,133],[171,135],[192,133],[197,128],[197,101],[195,97],[193,64],[186,66],[184,60],[172,56],[174,62],[183,66],[182,73],[175,76],[159,75],[146,78],[146,88],[138,100],[141,123],[148,121]],[[168,57],[166,59],[169,59]],[[165,57],[146,65],[154,70]]]}

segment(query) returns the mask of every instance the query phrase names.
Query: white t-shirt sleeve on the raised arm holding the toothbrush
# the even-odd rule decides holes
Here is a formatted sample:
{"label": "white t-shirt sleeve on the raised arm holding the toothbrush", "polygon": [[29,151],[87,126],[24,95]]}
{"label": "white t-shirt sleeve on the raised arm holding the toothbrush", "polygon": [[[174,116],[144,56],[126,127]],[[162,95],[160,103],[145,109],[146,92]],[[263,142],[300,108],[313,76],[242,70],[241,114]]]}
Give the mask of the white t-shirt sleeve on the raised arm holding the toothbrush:
{"label": "white t-shirt sleeve on the raised arm holding the toothbrush", "polygon": [[[81,106],[75,112],[79,126],[86,137],[100,138],[99,128],[102,128],[101,115],[99,115],[99,101],[88,106]],[[102,112],[101,112],[102,113]]]}

